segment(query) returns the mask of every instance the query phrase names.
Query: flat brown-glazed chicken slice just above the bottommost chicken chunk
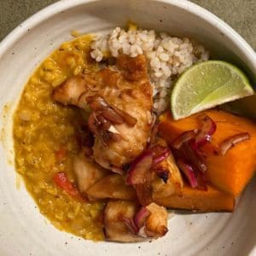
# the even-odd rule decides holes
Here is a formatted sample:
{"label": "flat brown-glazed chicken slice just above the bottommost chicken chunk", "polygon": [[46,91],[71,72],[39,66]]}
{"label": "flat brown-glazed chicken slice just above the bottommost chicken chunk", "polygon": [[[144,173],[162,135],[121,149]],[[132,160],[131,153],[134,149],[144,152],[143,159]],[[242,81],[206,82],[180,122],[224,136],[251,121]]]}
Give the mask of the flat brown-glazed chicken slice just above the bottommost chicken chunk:
{"label": "flat brown-glazed chicken slice just above the bottommost chicken chunk", "polygon": [[102,177],[86,191],[90,200],[113,198],[120,200],[136,200],[136,192],[131,186],[125,185],[125,177],[110,174]]}

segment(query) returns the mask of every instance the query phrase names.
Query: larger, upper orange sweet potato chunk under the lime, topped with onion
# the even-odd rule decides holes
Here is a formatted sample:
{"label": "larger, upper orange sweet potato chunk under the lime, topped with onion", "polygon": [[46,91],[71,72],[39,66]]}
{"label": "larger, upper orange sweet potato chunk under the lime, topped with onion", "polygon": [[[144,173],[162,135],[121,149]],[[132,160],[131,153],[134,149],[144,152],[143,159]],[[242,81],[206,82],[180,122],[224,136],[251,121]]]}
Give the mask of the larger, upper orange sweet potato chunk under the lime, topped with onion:
{"label": "larger, upper orange sweet potato chunk under the lime, topped with onion", "polygon": [[[212,143],[207,143],[202,150],[207,153],[207,181],[230,195],[239,195],[256,170],[256,124],[220,110],[205,111],[217,125],[212,136]],[[174,121],[171,113],[160,117],[160,135],[172,144],[183,131],[199,128],[198,115]],[[251,138],[236,144],[226,154],[216,154],[224,139],[241,132],[248,132]]]}

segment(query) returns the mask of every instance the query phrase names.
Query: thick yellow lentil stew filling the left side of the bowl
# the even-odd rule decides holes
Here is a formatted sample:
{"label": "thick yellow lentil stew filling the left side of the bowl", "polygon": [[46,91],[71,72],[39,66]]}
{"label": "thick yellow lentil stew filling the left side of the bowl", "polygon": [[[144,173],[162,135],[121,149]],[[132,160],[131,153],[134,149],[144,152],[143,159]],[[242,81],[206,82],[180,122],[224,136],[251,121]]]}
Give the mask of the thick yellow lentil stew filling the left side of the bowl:
{"label": "thick yellow lentil stew filling the left side of the bowl", "polygon": [[98,68],[90,60],[91,39],[87,35],[62,44],[32,74],[15,111],[14,141],[16,170],[40,212],[58,229],[97,241],[103,240],[103,203],[75,199],[53,180],[65,172],[75,183],[75,131],[83,116],[78,108],[54,102],[51,92],[71,76]]}

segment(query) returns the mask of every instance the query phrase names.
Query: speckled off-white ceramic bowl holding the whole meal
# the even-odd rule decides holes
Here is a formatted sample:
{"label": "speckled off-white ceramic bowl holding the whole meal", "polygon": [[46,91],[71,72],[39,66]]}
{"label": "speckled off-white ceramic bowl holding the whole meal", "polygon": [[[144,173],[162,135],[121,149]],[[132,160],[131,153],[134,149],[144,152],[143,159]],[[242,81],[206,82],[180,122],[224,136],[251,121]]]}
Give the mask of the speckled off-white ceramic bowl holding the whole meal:
{"label": "speckled off-white ceramic bowl holding the whole meal", "polygon": [[[65,0],[20,24],[0,44],[0,254],[7,255],[256,255],[256,181],[241,195],[236,212],[177,213],[167,236],[133,244],[84,241],[56,230],[35,208],[21,184],[17,189],[12,113],[26,80],[70,32],[108,32],[126,20],[140,26],[197,38],[214,54],[242,66],[253,79],[253,49],[222,20],[180,0]],[[230,163],[231,164],[231,163]],[[67,244],[66,244],[67,242]]]}

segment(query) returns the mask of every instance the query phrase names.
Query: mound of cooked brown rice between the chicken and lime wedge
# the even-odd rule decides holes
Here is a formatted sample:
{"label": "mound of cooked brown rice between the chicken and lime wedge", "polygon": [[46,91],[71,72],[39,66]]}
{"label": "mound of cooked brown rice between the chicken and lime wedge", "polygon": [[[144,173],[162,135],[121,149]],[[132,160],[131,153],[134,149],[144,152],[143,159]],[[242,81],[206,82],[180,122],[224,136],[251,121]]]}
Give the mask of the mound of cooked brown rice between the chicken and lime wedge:
{"label": "mound of cooked brown rice between the chicken and lime wedge", "polygon": [[177,75],[198,61],[207,61],[209,53],[189,38],[173,38],[164,32],[116,27],[107,36],[97,35],[91,44],[91,57],[96,61],[108,55],[146,55],[148,72],[154,90],[154,109],[161,113],[168,106],[168,96]]}

